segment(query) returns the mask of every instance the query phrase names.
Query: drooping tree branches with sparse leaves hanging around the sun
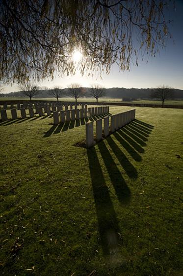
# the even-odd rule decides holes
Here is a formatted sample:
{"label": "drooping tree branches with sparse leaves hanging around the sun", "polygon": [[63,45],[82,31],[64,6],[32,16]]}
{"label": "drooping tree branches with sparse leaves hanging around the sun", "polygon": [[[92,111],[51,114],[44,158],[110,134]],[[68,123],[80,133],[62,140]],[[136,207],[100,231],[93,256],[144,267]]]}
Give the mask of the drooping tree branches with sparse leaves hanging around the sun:
{"label": "drooping tree branches with sparse leaves hanging around the sun", "polygon": [[[1,0],[0,79],[39,81],[54,71],[129,70],[170,36],[172,0]],[[138,43],[137,43],[138,41]],[[84,59],[75,65],[72,53]],[[135,61],[134,61],[135,59]]]}

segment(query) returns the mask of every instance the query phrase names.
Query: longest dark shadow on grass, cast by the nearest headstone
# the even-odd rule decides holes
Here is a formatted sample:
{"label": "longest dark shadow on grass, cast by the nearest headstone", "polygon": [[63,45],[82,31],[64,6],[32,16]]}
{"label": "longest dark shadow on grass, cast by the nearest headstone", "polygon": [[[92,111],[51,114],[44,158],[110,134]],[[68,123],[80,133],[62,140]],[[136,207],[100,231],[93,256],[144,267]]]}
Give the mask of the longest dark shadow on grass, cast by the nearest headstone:
{"label": "longest dark shadow on grass, cast by the nearest headstone", "polygon": [[95,147],[87,149],[87,155],[103,252],[105,255],[115,254],[120,233],[118,220]]}

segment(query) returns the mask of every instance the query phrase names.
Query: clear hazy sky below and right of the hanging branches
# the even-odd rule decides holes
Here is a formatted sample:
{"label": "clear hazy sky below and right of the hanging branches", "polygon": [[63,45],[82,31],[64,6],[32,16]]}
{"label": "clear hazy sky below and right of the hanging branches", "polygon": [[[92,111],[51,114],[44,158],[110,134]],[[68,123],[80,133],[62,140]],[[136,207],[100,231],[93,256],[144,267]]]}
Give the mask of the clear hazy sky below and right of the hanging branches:
{"label": "clear hazy sky below and right of the hanging branches", "polygon": [[[103,79],[81,76],[76,73],[74,76],[63,78],[55,77],[53,81],[46,79],[40,82],[40,86],[62,86],[67,87],[72,82],[78,82],[81,86],[91,86],[99,83],[105,88],[126,87],[126,88],[151,88],[159,85],[169,85],[174,88],[183,89],[183,0],[176,0],[176,10],[171,12],[173,24],[170,26],[172,40],[168,40],[166,47],[160,51],[156,58],[150,57],[144,61],[138,61],[138,67],[131,65],[130,72],[119,72],[117,65],[113,65],[110,73],[103,74]],[[4,92],[18,91],[17,86],[5,86]]]}

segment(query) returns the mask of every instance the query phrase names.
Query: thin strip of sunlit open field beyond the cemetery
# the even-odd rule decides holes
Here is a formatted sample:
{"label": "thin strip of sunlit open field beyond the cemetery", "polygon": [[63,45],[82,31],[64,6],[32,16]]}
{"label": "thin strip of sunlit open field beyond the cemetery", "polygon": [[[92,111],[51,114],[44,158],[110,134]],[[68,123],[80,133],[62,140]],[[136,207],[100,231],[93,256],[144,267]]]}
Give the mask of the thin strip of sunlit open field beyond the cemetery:
{"label": "thin strip of sunlit open field beyond the cemetery", "polygon": [[[26,97],[6,97],[6,98],[0,98],[0,100],[2,101],[16,101],[16,100],[29,100],[29,98]],[[43,101],[56,101],[55,98],[32,98],[32,101],[39,101],[39,100],[43,100]],[[74,102],[75,100],[72,98],[59,98],[59,101],[67,101],[67,102]],[[95,98],[79,98],[78,102],[96,102]],[[129,102],[123,102],[121,101],[121,99],[110,99],[110,98],[100,98],[99,99],[99,103],[102,102],[108,102],[108,103],[116,103],[116,102],[120,102],[120,103],[128,103],[128,104],[161,104],[161,101],[150,101],[150,100],[136,100],[136,101],[129,101]],[[164,104],[168,105],[168,104],[175,104],[175,105],[182,105],[183,104],[183,100],[179,100],[179,101],[165,101]]]}

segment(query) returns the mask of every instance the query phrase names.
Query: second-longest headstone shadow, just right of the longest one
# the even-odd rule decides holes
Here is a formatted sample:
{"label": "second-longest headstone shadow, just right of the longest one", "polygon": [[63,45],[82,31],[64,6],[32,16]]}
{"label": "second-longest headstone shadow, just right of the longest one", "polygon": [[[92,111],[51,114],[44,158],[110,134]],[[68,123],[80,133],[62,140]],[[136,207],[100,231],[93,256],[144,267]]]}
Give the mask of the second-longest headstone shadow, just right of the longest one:
{"label": "second-longest headstone shadow, just right of the longest one", "polygon": [[116,166],[116,163],[114,162],[110,152],[108,151],[105,142],[99,142],[98,147],[118,200],[123,204],[128,204],[131,198],[131,191],[129,187],[127,186],[122,174]]}

